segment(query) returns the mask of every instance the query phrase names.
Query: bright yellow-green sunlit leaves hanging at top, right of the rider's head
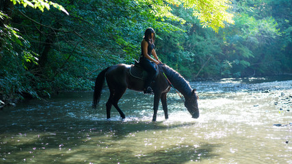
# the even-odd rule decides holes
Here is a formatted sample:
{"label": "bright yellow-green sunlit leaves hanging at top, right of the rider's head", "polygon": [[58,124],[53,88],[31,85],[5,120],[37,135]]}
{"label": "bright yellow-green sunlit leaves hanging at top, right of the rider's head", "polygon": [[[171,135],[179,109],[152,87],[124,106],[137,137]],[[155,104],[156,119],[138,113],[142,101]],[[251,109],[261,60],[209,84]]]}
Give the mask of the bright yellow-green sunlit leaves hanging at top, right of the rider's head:
{"label": "bright yellow-green sunlit leaves hanging at top, right of the rider's head", "polygon": [[226,23],[233,24],[233,14],[228,12],[232,8],[229,0],[137,0],[139,3],[147,3],[152,8],[152,13],[162,20],[170,18],[172,20],[185,23],[183,18],[172,14],[172,5],[183,5],[184,8],[193,10],[193,16],[200,20],[203,27],[211,27],[216,32],[220,27],[225,27]]}

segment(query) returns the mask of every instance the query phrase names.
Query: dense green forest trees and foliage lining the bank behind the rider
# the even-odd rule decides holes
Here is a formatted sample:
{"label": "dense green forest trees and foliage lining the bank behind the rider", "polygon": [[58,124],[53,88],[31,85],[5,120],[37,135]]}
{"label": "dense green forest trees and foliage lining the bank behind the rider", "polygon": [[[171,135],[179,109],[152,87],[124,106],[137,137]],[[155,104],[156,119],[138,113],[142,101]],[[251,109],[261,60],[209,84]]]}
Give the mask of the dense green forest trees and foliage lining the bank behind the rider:
{"label": "dense green forest trees and foliage lining the bank behind the rider", "polygon": [[190,80],[292,73],[289,0],[38,2],[0,2],[0,100],[91,90],[100,70],[138,59],[147,27]]}

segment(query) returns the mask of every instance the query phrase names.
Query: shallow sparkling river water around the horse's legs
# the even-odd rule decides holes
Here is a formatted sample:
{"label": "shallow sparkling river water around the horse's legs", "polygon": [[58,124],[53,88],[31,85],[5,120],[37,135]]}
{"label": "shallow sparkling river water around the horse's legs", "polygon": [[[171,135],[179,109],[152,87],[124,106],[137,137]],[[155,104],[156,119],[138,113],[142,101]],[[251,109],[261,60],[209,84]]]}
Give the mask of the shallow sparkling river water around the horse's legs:
{"label": "shallow sparkling river water around the horse's legs", "polygon": [[130,90],[124,120],[106,120],[107,89],[96,110],[92,92],[22,102],[0,111],[0,163],[292,163],[291,79],[191,82],[198,119],[173,89],[157,122],[153,96]]}

